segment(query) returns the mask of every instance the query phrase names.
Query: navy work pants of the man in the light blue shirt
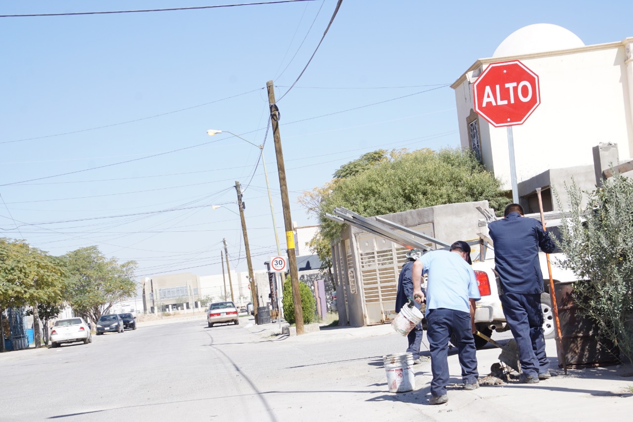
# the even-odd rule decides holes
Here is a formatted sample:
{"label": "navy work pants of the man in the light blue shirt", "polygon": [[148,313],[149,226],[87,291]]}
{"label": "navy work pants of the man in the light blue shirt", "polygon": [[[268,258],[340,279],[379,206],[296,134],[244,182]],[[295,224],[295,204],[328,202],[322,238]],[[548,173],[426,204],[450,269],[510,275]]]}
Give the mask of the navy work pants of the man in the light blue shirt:
{"label": "navy work pants of the man in the light blue shirt", "polygon": [[446,394],[448,385],[448,340],[455,335],[461,365],[461,378],[464,383],[477,382],[477,356],[475,338],[473,338],[470,313],[453,309],[430,309],[427,315],[427,338],[431,353],[431,394]]}

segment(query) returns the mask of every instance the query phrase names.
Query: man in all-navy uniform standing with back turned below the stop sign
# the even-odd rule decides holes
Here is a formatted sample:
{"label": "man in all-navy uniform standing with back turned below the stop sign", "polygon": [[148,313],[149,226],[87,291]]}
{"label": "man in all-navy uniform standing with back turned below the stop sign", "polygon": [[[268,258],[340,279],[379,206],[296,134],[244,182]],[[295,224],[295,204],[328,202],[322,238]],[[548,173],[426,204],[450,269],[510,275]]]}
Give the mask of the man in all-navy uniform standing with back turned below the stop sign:
{"label": "man in all-navy uniform standing with back turned below the stop sign", "polygon": [[555,244],[539,221],[523,216],[519,204],[506,206],[503,214],[505,218],[488,224],[495,269],[503,289],[499,299],[517,340],[520,381],[533,384],[550,376],[542,327],[539,248],[549,254]]}

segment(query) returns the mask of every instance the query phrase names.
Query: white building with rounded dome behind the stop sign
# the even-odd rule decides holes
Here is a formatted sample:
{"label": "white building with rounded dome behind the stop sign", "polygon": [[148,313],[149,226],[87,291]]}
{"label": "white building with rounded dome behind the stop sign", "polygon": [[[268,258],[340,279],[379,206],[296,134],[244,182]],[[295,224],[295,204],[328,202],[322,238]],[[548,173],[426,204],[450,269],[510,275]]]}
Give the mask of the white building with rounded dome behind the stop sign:
{"label": "white building with rounded dome behind the stop sign", "polygon": [[[506,128],[495,128],[475,113],[472,84],[489,63],[518,59],[539,76],[541,86],[539,107],[523,125],[513,127],[522,204],[532,202],[534,187],[555,184],[548,180],[551,169],[577,168],[581,179],[589,169],[595,183],[592,147],[614,142],[620,160],[633,154],[632,49],[633,37],[586,46],[569,30],[548,23],[513,32],[491,58],[475,61],[451,85],[461,146],[470,147],[511,189]],[[544,195],[546,211],[555,208],[549,192]]]}

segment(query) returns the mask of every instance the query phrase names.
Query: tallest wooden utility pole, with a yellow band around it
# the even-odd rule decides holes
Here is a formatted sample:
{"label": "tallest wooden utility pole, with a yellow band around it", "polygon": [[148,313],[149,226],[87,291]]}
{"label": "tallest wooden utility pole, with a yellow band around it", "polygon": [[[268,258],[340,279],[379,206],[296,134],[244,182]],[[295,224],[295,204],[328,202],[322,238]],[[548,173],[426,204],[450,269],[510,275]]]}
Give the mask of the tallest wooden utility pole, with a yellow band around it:
{"label": "tallest wooden utility pole, with a yellow band around it", "polygon": [[290,200],[288,198],[288,186],[285,180],[284,152],[281,148],[281,135],[279,134],[279,109],[275,104],[275,87],[273,81],[266,82],[268,89],[268,105],[270,106],[270,121],[273,125],[273,137],[275,139],[275,154],[277,156],[277,170],[279,171],[279,187],[281,190],[281,203],[284,209],[285,242],[288,247],[288,266],[290,267],[290,281],[292,285],[292,302],[294,303],[294,321],[297,327],[297,335],[303,334],[303,308],[301,307],[301,294],[299,293],[299,275],[297,273],[297,257],[294,252],[294,231],[292,230],[292,216],[290,214]]}

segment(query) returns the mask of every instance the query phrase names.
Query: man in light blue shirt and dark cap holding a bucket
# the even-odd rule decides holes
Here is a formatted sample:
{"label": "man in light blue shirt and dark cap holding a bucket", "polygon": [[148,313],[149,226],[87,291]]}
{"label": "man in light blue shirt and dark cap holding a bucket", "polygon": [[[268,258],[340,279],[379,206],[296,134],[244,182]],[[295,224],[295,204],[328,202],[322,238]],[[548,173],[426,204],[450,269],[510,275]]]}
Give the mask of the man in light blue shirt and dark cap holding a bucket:
{"label": "man in light blue shirt and dark cap holding a bucket", "polygon": [[431,398],[429,404],[448,402],[448,342],[457,342],[461,378],[465,390],[479,388],[475,355],[475,301],[479,301],[477,278],[470,267],[470,245],[458,240],[449,251],[431,251],[413,263],[413,295],[421,303],[422,275],[427,274],[427,338],[431,354]]}

